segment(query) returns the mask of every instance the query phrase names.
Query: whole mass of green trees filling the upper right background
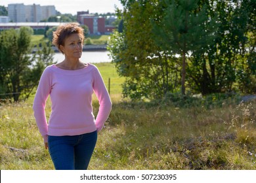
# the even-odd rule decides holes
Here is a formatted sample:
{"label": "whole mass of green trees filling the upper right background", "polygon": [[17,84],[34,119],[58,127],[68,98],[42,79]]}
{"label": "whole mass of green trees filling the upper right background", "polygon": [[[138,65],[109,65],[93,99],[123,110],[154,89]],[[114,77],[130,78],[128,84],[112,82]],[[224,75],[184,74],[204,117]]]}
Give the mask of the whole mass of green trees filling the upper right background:
{"label": "whole mass of green trees filling the upper right background", "polygon": [[125,97],[162,98],[181,86],[183,95],[185,86],[202,95],[255,93],[255,1],[121,3],[123,28],[108,49],[126,77]]}

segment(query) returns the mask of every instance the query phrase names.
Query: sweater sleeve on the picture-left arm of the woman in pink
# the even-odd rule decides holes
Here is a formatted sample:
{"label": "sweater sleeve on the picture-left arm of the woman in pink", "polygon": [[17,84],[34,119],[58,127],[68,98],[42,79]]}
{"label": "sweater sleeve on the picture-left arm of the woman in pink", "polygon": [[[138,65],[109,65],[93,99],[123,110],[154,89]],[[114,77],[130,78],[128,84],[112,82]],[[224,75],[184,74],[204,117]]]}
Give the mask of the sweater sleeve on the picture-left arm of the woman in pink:
{"label": "sweater sleeve on the picture-left arm of the woman in pink", "polygon": [[45,104],[51,93],[51,73],[49,70],[49,68],[46,68],[45,71],[43,71],[33,101],[35,121],[44,142],[48,141],[48,124],[45,116]]}

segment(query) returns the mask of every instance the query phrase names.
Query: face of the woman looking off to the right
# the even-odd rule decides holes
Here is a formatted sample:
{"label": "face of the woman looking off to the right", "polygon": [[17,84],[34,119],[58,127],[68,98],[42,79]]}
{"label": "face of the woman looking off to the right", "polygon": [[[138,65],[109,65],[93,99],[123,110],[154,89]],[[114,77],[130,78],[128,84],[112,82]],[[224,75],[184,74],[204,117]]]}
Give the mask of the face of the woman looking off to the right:
{"label": "face of the woman looking off to the right", "polygon": [[83,39],[78,33],[74,33],[65,39],[64,46],[60,45],[60,49],[68,58],[81,58]]}

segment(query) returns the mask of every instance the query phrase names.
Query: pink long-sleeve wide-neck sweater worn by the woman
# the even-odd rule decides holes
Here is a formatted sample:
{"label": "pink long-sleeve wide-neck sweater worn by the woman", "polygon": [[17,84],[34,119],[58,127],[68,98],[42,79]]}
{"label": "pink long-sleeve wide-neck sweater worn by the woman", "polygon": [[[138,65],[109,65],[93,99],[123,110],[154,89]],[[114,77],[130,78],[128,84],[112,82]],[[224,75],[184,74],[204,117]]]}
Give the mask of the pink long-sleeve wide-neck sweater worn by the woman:
{"label": "pink long-sleeve wide-neck sweater worn by the woman", "polygon": [[[92,94],[95,92],[100,107],[93,114]],[[47,123],[45,104],[51,97],[51,116]],[[108,119],[112,103],[106,86],[95,65],[77,70],[48,66],[39,81],[33,111],[39,132],[47,142],[48,135],[81,135],[100,131]]]}

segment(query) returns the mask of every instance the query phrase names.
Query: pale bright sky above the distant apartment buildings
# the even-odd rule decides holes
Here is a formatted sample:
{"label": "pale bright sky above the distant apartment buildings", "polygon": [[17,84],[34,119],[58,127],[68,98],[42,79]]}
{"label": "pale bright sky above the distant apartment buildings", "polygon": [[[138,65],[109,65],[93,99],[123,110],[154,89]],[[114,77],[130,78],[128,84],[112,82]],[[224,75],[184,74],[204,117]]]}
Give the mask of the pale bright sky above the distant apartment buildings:
{"label": "pale bright sky above the distant apartment buildings", "polygon": [[117,8],[122,8],[119,0],[0,0],[0,5],[8,7],[12,3],[24,3],[24,5],[54,5],[61,14],[77,14],[77,11],[87,11],[90,13],[115,12]]}

